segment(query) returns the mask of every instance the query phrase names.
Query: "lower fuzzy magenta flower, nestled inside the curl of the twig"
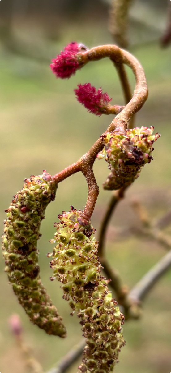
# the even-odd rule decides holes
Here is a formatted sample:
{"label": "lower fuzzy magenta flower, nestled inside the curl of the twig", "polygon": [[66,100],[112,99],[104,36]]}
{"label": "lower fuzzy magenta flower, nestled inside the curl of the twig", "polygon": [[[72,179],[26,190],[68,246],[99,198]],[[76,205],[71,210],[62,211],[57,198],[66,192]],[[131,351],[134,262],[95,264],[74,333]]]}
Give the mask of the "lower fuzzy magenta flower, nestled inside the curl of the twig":
{"label": "lower fuzzy magenta flower, nestled inside the curl of the twig", "polygon": [[105,113],[112,98],[107,93],[103,93],[102,88],[96,90],[90,83],[78,84],[78,89],[74,90],[77,100],[84,105],[90,113],[102,115]]}

